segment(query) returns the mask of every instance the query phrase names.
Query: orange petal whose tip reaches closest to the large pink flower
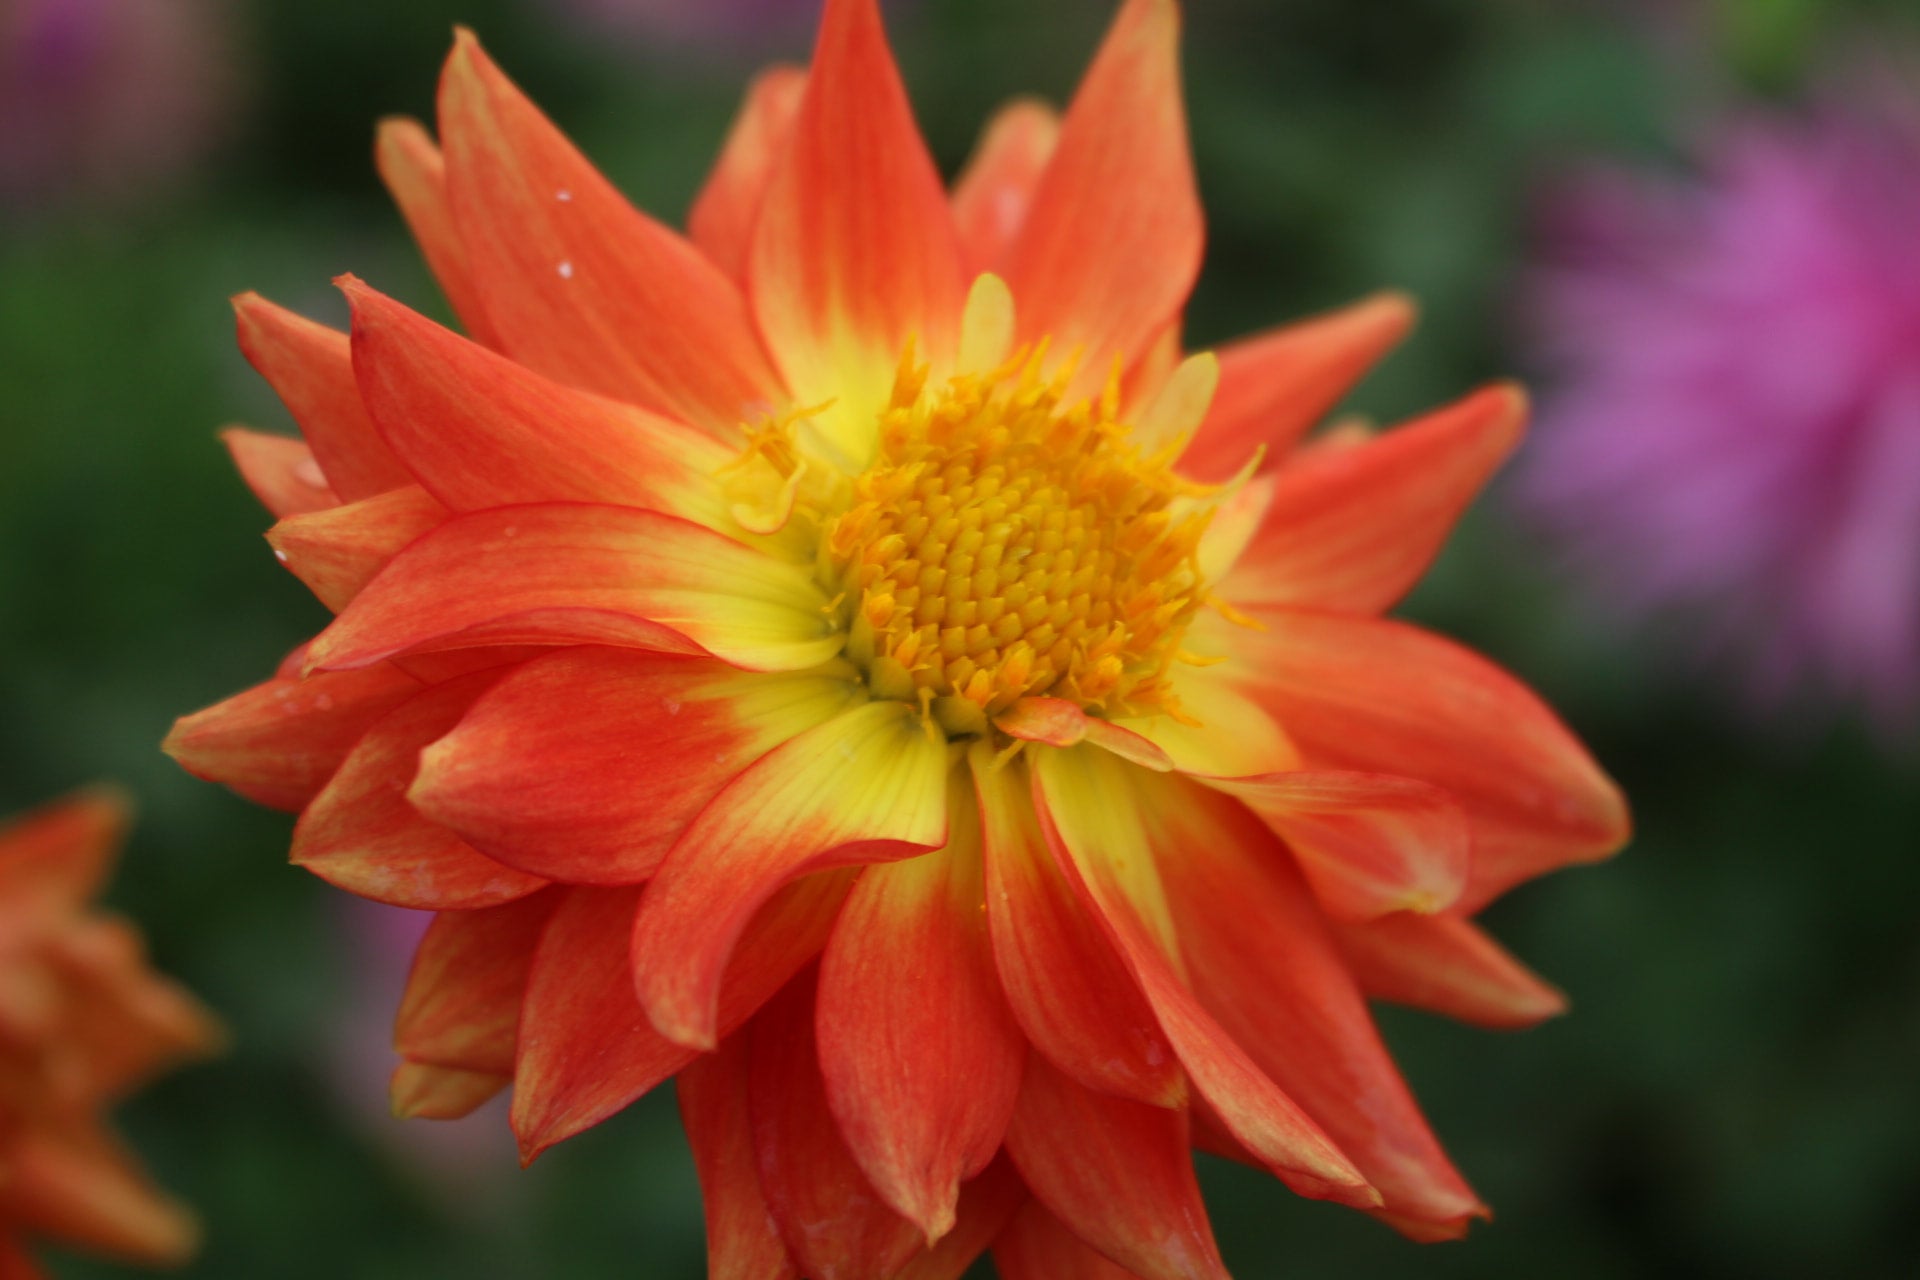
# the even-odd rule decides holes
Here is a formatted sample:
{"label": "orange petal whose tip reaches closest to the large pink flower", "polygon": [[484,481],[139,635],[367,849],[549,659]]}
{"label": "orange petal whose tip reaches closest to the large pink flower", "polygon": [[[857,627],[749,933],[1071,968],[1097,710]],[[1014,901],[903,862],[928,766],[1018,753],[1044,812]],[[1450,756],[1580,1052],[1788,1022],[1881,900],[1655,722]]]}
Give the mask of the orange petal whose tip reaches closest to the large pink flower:
{"label": "orange petal whose tip reaches closest to the large pink flower", "polygon": [[1267,514],[1219,593],[1236,606],[1388,608],[1521,441],[1524,418],[1526,397],[1498,386],[1363,445],[1300,455],[1273,476]]}

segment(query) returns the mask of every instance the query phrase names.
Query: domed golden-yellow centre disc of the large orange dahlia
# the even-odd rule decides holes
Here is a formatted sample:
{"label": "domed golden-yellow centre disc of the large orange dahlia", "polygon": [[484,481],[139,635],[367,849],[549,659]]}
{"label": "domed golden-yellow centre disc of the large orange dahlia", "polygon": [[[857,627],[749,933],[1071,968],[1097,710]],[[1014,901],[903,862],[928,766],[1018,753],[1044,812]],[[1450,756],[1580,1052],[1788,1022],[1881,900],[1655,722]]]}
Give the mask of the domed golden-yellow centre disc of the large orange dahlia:
{"label": "domed golden-yellow centre disc of the large orange dahlia", "polygon": [[[927,386],[902,361],[879,453],[826,528],[849,656],[883,697],[968,722],[1048,695],[1106,716],[1175,710],[1167,666],[1206,603],[1212,489],[1144,453],[1117,380],[1064,403],[1044,349]],[[1202,405],[1204,409],[1204,405]]]}

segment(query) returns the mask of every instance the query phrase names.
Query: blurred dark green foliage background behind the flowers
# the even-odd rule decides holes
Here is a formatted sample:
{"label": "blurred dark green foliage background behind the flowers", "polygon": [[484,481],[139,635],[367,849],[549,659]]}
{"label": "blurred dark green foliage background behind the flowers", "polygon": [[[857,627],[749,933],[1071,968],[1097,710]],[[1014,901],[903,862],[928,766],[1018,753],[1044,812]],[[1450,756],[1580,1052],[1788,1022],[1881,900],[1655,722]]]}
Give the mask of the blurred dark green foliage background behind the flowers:
{"label": "blurred dark green foliage background behind the flowers", "polygon": [[[140,798],[111,902],[236,1032],[230,1057],[123,1111],[156,1176],[207,1221],[194,1276],[701,1274],[670,1088],[526,1173],[497,1109],[451,1136],[386,1119],[367,1027],[392,1007],[390,929],[286,865],[288,818],[156,748],[177,714],[263,677],[323,622],[275,566],[267,516],[213,436],[290,430],[234,349],[227,296],[253,288],[340,324],[326,282],[351,269],[445,315],[369,152],[376,117],[430,113],[453,21],[630,196],[678,217],[745,73],[803,58],[810,21],[770,0],[674,21],[689,4],[634,4],[609,23],[616,0],[167,0],[211,35],[184,44],[184,63],[121,59],[86,90],[175,109],[165,165],[152,144],[56,121],[44,94],[0,92],[0,134],[65,130],[52,161],[0,175],[0,812],[94,777]],[[1920,13],[1891,2],[1190,10],[1212,228],[1190,336],[1405,288],[1425,322],[1354,403],[1380,420],[1523,370],[1515,288],[1557,171],[1594,154],[1670,163],[1703,111],[1791,94],[1828,42],[1920,35]],[[1108,6],[902,0],[891,13],[950,171],[996,100],[1069,90]],[[1488,913],[1571,992],[1571,1017],[1490,1034],[1382,1013],[1498,1221],[1419,1247],[1206,1161],[1235,1274],[1914,1274],[1912,735],[1874,737],[1853,712],[1757,718],[1657,633],[1574,604],[1551,549],[1498,495],[1405,612],[1540,687],[1624,783],[1640,833],[1620,860]],[[58,1276],[115,1274],[50,1261]]]}

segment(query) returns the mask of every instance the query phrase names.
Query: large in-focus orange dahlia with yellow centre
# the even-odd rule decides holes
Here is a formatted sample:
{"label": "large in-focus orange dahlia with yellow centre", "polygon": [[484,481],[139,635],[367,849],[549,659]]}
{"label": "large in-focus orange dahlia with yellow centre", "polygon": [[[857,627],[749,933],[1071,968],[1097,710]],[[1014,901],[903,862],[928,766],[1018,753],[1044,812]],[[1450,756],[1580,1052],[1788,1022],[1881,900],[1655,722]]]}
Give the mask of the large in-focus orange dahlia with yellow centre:
{"label": "large in-focus orange dahlia with yellow centre", "polygon": [[1557,1011],[1471,915],[1626,814],[1380,612],[1523,399],[1302,443],[1396,296],[1183,357],[1177,27],[1127,0],[948,190],[828,0],[687,236],[463,33],[378,163],[468,338],[238,299],[305,443],[228,443],[338,616],[169,750],[440,913],[397,1111],[511,1084],[532,1159],[678,1079],[716,1276],[1219,1276],[1194,1146],[1484,1215],[1365,1000]]}

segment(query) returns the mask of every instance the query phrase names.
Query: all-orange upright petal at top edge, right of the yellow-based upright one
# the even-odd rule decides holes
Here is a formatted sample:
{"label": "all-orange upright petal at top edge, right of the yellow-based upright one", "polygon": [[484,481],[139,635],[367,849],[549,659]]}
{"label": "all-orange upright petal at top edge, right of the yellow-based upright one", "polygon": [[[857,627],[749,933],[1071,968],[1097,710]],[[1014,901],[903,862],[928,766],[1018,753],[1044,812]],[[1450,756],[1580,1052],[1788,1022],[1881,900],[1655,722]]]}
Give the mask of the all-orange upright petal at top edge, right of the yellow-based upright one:
{"label": "all-orange upright petal at top edge, right of the yellow-based upright one", "polygon": [[1006,261],[1021,336],[1079,347],[1087,386],[1144,355],[1200,274],[1179,25],[1173,0],[1121,8]]}

